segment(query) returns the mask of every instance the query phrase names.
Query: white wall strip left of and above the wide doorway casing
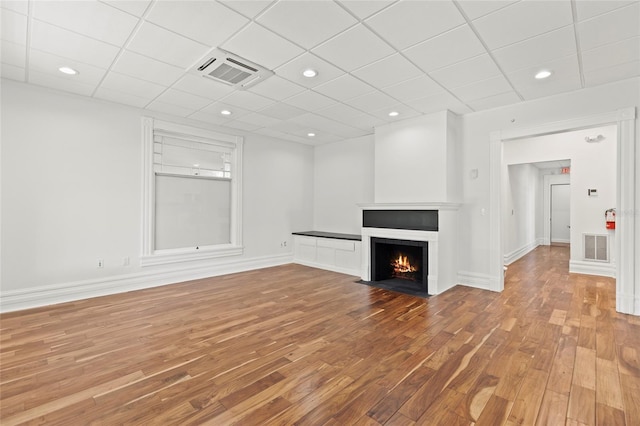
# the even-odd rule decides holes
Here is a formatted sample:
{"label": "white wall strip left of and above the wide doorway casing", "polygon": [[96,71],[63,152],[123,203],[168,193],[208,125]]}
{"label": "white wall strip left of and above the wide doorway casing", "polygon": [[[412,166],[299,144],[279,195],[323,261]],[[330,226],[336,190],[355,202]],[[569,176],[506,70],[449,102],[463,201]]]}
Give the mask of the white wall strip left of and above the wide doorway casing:
{"label": "white wall strip left of and above the wide doorway casing", "polygon": [[[633,78],[579,92],[467,114],[462,117],[464,203],[461,209],[462,238],[459,244],[460,269],[462,271],[487,278],[490,273],[489,153],[491,132],[526,129],[547,123],[608,113],[622,108],[638,107],[640,106],[639,82],[639,78]],[[640,140],[639,134],[640,132],[636,131],[636,141]],[[530,161],[532,160],[524,162]],[[478,169],[477,179],[468,177],[469,171],[472,169]]]}

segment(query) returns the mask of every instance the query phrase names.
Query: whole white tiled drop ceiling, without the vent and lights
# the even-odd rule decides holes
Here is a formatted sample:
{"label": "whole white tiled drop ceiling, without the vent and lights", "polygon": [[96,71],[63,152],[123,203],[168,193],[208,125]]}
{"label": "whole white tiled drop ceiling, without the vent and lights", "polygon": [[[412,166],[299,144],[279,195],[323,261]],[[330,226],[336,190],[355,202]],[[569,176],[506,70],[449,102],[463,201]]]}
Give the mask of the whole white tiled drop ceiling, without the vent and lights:
{"label": "whole white tiled drop ceiling, without the vent and lights", "polygon": [[[640,75],[640,0],[2,0],[0,13],[3,78],[307,144]],[[246,91],[202,78],[214,48],[275,75]]]}

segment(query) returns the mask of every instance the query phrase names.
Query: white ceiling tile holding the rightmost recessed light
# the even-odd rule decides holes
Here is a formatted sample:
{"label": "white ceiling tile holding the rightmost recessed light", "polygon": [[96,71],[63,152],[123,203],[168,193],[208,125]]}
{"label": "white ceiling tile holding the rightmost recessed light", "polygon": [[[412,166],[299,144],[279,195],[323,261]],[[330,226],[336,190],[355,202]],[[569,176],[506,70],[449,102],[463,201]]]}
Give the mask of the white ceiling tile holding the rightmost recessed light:
{"label": "white ceiling tile holding the rightmost recessed light", "polygon": [[[552,76],[544,80],[536,80],[533,76],[540,68],[551,70]],[[577,90],[581,87],[577,55],[546,62],[539,67],[514,71],[508,73],[507,78],[526,100]]]}

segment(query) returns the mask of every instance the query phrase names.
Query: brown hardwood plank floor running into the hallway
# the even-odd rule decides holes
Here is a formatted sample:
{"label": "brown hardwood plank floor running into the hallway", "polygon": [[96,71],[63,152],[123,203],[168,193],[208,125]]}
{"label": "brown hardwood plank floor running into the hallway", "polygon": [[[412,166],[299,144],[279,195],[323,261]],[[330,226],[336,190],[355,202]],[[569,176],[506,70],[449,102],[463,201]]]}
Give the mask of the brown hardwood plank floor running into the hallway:
{"label": "brown hardwood plank floor running into the hallway", "polygon": [[501,294],[286,265],[0,316],[0,423],[638,425],[640,318],[566,247]]}

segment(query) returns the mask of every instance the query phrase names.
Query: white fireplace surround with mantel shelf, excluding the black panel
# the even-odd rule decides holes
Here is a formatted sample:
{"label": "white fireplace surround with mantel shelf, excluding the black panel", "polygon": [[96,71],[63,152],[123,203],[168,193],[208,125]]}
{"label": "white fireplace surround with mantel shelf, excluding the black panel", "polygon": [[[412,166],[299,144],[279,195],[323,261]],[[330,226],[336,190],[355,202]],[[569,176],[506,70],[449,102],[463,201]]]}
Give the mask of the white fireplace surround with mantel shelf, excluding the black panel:
{"label": "white fireplace surround with mantel shelf, excluding the black panel", "polygon": [[362,227],[363,281],[371,281],[371,238],[423,241],[428,245],[427,292],[442,293],[456,285],[457,203],[360,204],[361,210],[438,210],[438,231]]}

